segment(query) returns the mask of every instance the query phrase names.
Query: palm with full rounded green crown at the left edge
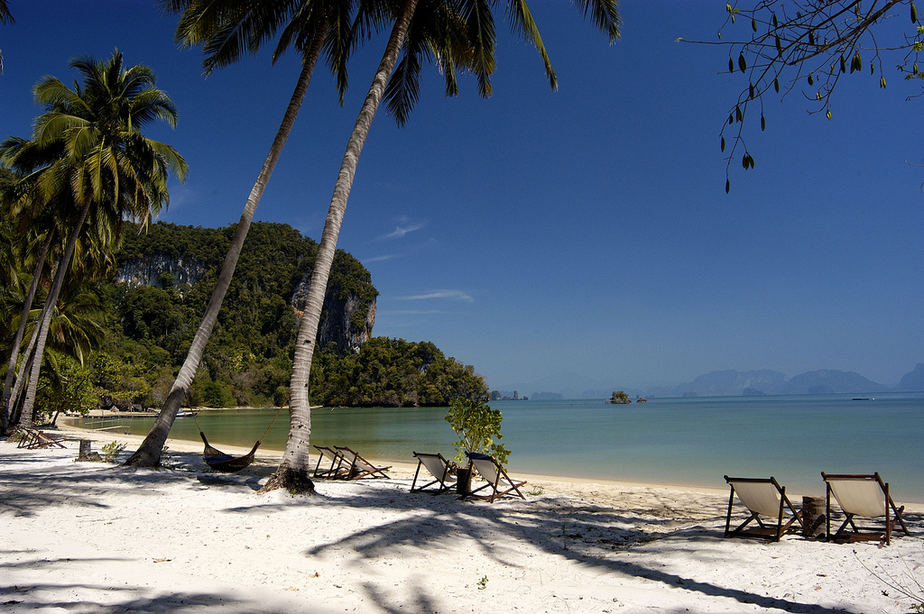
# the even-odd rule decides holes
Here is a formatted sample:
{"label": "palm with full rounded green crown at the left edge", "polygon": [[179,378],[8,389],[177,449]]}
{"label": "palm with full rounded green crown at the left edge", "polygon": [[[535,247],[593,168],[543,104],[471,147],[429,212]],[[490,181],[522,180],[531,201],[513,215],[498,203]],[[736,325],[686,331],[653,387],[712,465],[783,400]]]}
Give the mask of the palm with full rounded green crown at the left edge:
{"label": "palm with full rounded green crown at the left edge", "polygon": [[187,173],[176,150],[140,133],[157,119],[176,126],[176,107],[154,87],[150,68],[125,68],[118,50],[109,60],[77,58],[70,67],[79,70],[82,86],[75,82],[71,90],[54,77],[40,80],[33,91],[47,110],[37,118],[32,140],[7,141],[0,156],[14,168],[27,161],[34,164],[30,170],[43,204],[67,220],[67,246],[56,262],[30,358],[25,420],[32,412],[54,307],[84,224],[90,220],[96,232],[109,237],[118,235],[127,220],[144,227],[169,203],[169,175],[182,180]]}

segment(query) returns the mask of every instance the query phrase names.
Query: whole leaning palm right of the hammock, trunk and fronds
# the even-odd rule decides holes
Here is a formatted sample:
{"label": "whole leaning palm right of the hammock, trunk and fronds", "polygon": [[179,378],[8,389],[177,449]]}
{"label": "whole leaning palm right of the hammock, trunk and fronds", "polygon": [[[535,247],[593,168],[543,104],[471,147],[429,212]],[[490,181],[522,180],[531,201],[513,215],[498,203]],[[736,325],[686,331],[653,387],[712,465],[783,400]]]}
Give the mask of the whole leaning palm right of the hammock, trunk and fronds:
{"label": "whole leaning palm right of the hammock, trunk and fronds", "polygon": [[[441,11],[436,0],[401,0],[395,13],[395,25],[391,30],[385,53],[376,71],[375,77],[366,100],[359,111],[356,125],[346,144],[346,152],[340,166],[340,173],[334,185],[334,195],[327,212],[321,236],[321,244],[315,259],[314,269],[311,272],[311,284],[306,300],[305,314],[301,319],[296,342],[295,360],[292,371],[292,382],[289,386],[289,436],[286,440],[286,451],[283,460],[263,489],[286,488],[290,491],[310,492],[313,490],[309,478],[310,470],[310,432],[311,415],[309,404],[309,375],[311,359],[314,354],[315,340],[318,334],[318,325],[321,320],[323,296],[327,287],[327,279],[334,259],[337,236],[340,225],[346,213],[346,202],[356,175],[359,163],[359,154],[369,135],[372,119],[375,117],[379,103],[382,102],[386,91],[386,84],[392,78],[398,55],[402,48],[405,58],[402,66],[407,69],[398,74],[401,80],[395,81],[391,90],[390,101],[392,112],[398,122],[407,117],[407,111],[417,100],[416,75],[419,72],[420,56],[426,53],[427,46],[421,44],[421,38],[408,37],[408,33],[441,30],[452,31],[445,28],[444,23],[433,24],[430,19],[460,16],[465,20],[468,34],[468,54],[456,51],[454,57],[464,62],[479,78],[480,93],[490,95],[490,75],[494,68],[494,30],[492,9],[499,4],[497,0],[458,0],[453,3],[454,11]],[[442,4],[442,3],[439,3]],[[619,14],[615,0],[573,0],[578,11],[586,17],[590,12],[594,24],[603,30],[614,42],[619,37]],[[424,10],[421,10],[424,9]],[[508,0],[506,3],[507,18],[517,34],[533,44],[540,52],[545,72],[552,89],[556,88],[555,74],[552,63],[541,40],[539,29],[536,26],[526,0]],[[414,24],[413,22],[418,22]],[[428,22],[430,22],[428,24]],[[424,26],[423,24],[428,24]],[[456,49],[457,49],[456,41]],[[444,46],[430,49],[437,55],[448,50]],[[448,79],[448,78],[447,78]],[[447,80],[448,83],[448,80]]]}

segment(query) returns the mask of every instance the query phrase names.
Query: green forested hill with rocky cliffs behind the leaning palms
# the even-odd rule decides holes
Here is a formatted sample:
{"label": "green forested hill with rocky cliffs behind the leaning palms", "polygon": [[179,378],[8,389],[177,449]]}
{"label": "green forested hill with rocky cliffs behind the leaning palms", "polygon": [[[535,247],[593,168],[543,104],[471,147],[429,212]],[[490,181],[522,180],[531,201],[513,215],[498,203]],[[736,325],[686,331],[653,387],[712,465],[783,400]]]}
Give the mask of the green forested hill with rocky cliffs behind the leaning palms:
{"label": "green forested hill with rocky cliffs behind the leaning palms", "polygon": [[[127,234],[116,275],[100,288],[107,331],[92,371],[103,403],[163,403],[234,231],[234,225],[156,223],[147,233]],[[313,240],[286,224],[252,224],[189,404],[268,405],[286,398],[316,253]],[[377,295],[369,271],[337,250],[319,329],[319,367],[312,369],[312,403],[444,404],[460,393],[482,392],[471,367],[445,358],[432,343],[376,340],[376,351],[361,352],[371,339]]]}

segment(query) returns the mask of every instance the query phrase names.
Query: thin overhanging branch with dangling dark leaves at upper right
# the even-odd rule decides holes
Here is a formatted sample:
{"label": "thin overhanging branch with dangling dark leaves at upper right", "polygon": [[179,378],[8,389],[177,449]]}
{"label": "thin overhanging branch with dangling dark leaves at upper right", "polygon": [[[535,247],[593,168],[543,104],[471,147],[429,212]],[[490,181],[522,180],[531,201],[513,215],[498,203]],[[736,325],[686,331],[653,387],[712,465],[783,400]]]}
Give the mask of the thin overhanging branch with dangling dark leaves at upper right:
{"label": "thin overhanging branch with dangling dark leaves at upper right", "polygon": [[[720,131],[726,193],[733,164],[740,161],[744,170],[754,168],[745,120],[759,115],[760,130],[766,129],[766,96],[785,100],[801,92],[808,114],[831,120],[841,78],[867,74],[884,89],[886,71],[893,65],[905,79],[924,78],[918,67],[924,25],[912,0],[760,0],[750,8],[742,4],[725,5],[718,41],[692,41],[726,46],[728,74],[748,78]],[[729,32],[736,38],[723,40]]]}

